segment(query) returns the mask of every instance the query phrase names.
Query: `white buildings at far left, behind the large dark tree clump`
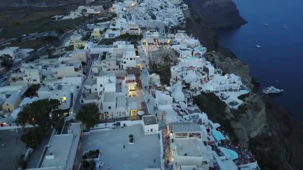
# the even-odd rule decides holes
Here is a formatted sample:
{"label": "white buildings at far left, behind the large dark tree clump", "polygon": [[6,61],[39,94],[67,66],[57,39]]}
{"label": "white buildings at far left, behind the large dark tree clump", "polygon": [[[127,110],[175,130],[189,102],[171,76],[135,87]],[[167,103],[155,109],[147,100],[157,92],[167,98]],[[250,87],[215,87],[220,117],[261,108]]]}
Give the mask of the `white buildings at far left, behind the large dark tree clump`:
{"label": "white buildings at far left, behind the large dark tree clump", "polygon": [[[75,50],[70,55],[48,59],[40,56],[29,63],[22,63],[15,73],[8,76],[7,85],[1,88],[1,126],[15,125],[22,107],[35,100],[58,99],[59,109],[73,112],[80,86],[84,80],[82,64],[91,60],[89,50]],[[33,98],[24,97],[31,85],[40,85]]]}

